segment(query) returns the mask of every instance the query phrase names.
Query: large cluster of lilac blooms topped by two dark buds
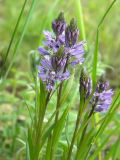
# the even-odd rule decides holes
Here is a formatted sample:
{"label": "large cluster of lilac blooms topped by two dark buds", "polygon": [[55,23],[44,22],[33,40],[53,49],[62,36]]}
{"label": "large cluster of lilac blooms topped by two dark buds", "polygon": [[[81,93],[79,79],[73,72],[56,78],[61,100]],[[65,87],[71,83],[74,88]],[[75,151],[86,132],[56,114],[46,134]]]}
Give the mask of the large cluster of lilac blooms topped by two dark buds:
{"label": "large cluster of lilac blooms topped by two dark buds", "polygon": [[63,13],[52,22],[53,32],[44,31],[44,47],[39,47],[41,62],[39,78],[46,83],[48,91],[54,89],[55,82],[69,78],[68,65],[84,61],[84,42],[77,43],[79,30],[74,19],[66,25]]}

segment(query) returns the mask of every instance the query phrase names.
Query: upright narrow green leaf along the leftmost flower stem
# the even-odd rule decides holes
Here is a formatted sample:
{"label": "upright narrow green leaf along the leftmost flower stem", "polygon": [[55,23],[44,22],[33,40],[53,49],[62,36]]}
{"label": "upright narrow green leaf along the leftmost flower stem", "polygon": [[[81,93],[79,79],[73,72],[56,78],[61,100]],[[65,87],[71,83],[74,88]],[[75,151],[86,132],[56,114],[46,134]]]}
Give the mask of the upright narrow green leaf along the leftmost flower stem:
{"label": "upright narrow green leaf along the leftmost flower stem", "polygon": [[[43,120],[46,111],[46,89],[43,82],[40,80],[40,90],[36,88],[36,114],[35,114],[35,125],[34,125],[34,159],[39,157],[42,142],[42,128]],[[37,119],[36,119],[37,117]]]}

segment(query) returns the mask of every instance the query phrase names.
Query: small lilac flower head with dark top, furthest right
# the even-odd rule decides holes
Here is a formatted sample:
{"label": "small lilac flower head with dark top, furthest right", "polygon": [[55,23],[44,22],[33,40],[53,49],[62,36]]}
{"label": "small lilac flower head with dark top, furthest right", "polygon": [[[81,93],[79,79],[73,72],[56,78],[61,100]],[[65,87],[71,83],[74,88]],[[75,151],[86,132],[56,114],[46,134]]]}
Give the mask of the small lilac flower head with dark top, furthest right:
{"label": "small lilac flower head with dark top, furthest right", "polygon": [[106,112],[112,103],[113,90],[109,89],[108,82],[99,82],[97,84],[96,92],[93,96],[93,105],[95,105],[96,112]]}

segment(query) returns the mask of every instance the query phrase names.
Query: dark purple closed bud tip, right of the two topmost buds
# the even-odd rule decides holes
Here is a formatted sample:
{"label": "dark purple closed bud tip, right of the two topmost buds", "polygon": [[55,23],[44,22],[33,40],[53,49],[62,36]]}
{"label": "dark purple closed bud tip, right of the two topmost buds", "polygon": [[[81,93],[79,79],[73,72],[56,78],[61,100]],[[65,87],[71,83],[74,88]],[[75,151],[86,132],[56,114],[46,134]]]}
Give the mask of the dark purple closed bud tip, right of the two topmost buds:
{"label": "dark purple closed bud tip, right of the two topmost buds", "polygon": [[70,25],[65,30],[65,43],[67,47],[72,47],[78,40],[79,30],[75,19],[72,19]]}

